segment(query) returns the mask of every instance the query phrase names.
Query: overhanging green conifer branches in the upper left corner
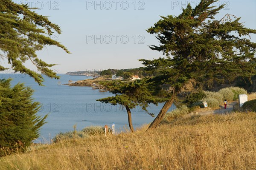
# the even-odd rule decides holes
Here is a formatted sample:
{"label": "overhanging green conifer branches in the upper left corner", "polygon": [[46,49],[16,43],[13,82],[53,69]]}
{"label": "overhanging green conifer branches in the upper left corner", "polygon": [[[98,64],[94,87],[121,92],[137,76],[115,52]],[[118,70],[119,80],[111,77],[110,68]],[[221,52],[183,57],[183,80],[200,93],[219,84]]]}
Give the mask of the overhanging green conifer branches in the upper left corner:
{"label": "overhanging green conifer branches in the upper left corner", "polygon": [[[48,17],[31,11],[27,4],[19,5],[12,0],[1,0],[0,20],[0,57],[6,58],[15,72],[28,74],[39,85],[42,85],[43,77],[23,65],[27,60],[42,74],[58,79],[56,73],[49,69],[55,64],[47,64],[39,59],[36,51],[47,45],[55,45],[70,53],[64,45],[50,37],[53,33],[61,34],[60,27],[51,23]],[[0,65],[0,71],[5,69]]]}

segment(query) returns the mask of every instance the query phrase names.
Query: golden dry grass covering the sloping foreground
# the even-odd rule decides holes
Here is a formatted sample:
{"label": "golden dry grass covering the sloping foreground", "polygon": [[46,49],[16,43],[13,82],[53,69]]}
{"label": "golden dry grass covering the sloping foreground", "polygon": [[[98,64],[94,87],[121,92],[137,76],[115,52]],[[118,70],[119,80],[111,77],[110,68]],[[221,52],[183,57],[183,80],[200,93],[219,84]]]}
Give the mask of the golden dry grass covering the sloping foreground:
{"label": "golden dry grass covering the sloping foreground", "polygon": [[5,156],[0,169],[256,169],[256,113],[180,118],[145,129]]}

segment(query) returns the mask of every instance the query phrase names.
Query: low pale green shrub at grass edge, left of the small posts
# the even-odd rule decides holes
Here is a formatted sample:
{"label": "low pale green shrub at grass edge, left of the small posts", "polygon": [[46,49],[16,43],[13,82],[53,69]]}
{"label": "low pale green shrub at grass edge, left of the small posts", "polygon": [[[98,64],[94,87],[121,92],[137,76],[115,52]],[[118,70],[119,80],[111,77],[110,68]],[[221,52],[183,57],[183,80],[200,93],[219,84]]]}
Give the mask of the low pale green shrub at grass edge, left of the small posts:
{"label": "low pale green shrub at grass edge, left of the small posts", "polygon": [[54,143],[60,142],[61,140],[67,140],[67,139],[79,139],[79,138],[87,138],[89,137],[88,134],[82,132],[82,131],[68,131],[68,132],[60,132],[58,133],[52,141]]}

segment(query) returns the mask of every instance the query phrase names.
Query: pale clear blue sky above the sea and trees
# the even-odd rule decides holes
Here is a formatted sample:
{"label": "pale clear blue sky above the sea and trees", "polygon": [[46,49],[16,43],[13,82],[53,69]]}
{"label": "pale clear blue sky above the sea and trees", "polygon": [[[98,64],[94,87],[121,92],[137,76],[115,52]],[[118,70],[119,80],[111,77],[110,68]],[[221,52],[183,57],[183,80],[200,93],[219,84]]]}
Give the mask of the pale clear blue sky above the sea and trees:
{"label": "pale clear blue sky above the sea and trees", "polygon": [[[154,35],[145,30],[154,26],[160,16],[179,15],[188,3],[195,7],[199,0],[13,0],[37,7],[38,14],[49,16],[52,23],[61,27],[60,35],[52,38],[65,45],[72,54],[61,48],[47,46],[38,51],[38,57],[47,63],[58,64],[52,69],[60,74],[68,71],[105,70],[108,68],[138,68],[138,59],[163,56],[148,45],[159,45]],[[224,0],[226,4],[215,16],[225,14],[241,17],[247,28],[256,29],[255,0]],[[256,35],[252,41],[256,42]],[[3,65],[7,61],[3,61]],[[7,64],[6,64],[7,65]],[[35,69],[30,63],[28,68]]]}

